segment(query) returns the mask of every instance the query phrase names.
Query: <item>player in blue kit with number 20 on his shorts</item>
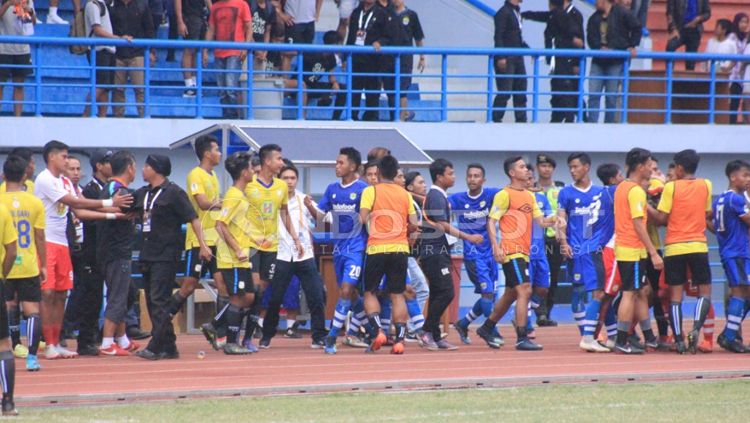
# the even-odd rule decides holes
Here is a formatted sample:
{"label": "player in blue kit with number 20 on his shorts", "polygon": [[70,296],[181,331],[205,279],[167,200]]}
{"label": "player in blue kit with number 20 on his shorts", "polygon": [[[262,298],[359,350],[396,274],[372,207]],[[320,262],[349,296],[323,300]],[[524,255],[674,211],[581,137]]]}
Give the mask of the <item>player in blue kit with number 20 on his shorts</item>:
{"label": "player in blue kit with number 20 on his shorts", "polygon": [[362,300],[357,295],[357,285],[362,274],[367,233],[359,219],[359,203],[367,184],[361,181],[357,174],[361,163],[362,156],[359,151],[352,147],[342,148],[336,158],[336,176],[341,178],[341,181],[334,182],[326,188],[318,203],[319,210],[308,206],[314,210],[318,218],[326,213],[330,213],[332,217],[333,264],[339,283],[339,300],[336,303],[331,331],[325,342],[327,354],[336,353],[336,337],[349,311],[357,313],[362,308]]}

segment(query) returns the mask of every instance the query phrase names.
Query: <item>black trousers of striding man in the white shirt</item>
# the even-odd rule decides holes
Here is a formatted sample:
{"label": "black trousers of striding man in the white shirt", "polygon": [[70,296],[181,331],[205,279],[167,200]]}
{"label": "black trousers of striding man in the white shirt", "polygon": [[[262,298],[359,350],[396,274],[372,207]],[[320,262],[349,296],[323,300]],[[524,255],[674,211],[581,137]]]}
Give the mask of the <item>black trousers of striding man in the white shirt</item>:
{"label": "black trousers of striding man in the white shirt", "polygon": [[297,276],[302,291],[307,299],[310,309],[310,326],[312,327],[313,341],[325,338],[325,300],[323,296],[323,280],[320,278],[315,259],[305,261],[283,261],[276,260],[276,271],[271,281],[271,299],[266,308],[266,317],[263,319],[263,337],[267,339],[276,335],[276,327],[279,325],[279,311],[284,301],[284,294],[289,288],[292,276]]}

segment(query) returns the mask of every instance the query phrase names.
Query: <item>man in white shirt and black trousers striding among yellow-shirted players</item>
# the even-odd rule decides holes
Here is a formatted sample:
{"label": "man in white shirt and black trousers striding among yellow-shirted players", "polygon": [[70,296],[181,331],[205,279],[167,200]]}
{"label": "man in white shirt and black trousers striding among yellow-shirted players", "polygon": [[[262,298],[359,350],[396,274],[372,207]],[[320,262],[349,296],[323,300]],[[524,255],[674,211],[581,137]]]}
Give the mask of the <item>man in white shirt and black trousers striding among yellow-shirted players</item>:
{"label": "man in white shirt and black trousers striding among yellow-shirted players", "polygon": [[[271,300],[268,302],[266,317],[263,319],[263,338],[260,348],[269,348],[271,338],[276,334],[279,324],[279,310],[284,300],[284,294],[289,287],[292,276],[297,276],[305,293],[307,305],[310,309],[310,324],[312,327],[312,348],[323,348],[325,336],[325,315],[323,305],[323,281],[315,265],[312,232],[310,230],[315,219],[305,205],[304,193],[297,191],[299,171],[294,165],[287,165],[279,173],[280,178],[289,187],[289,219],[294,230],[297,231],[300,243],[305,249],[304,254],[298,254],[292,236],[279,221],[279,251],[276,254],[276,271],[271,283]],[[314,205],[312,205],[314,207]]]}

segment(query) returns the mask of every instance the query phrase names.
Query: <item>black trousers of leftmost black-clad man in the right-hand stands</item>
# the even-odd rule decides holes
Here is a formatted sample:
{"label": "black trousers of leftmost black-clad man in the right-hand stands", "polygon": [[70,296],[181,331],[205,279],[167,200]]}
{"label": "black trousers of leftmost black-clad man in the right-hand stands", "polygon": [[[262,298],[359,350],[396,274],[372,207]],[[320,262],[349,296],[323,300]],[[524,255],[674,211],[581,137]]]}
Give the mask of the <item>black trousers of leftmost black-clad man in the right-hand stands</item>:
{"label": "black trousers of leftmost black-clad man in the right-hand stands", "polygon": [[501,92],[495,95],[492,102],[492,121],[503,121],[512,91],[516,122],[526,122],[527,81],[523,57],[508,57],[504,68],[495,62],[495,88]]}

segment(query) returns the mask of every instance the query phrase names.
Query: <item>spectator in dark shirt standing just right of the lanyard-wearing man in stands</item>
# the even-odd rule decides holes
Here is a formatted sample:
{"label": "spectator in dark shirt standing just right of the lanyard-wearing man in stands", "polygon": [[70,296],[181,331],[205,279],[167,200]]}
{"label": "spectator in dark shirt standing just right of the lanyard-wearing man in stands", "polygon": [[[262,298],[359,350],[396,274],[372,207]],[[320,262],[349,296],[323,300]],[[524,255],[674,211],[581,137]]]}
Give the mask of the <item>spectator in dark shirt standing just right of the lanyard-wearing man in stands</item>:
{"label": "spectator in dark shirt standing just right of the lanyard-wearing man in stands", "polygon": [[[388,25],[386,26],[386,32],[391,45],[412,47],[416,44],[417,47],[424,46],[424,31],[422,31],[422,25],[419,23],[419,15],[417,15],[417,12],[407,8],[404,0],[394,0],[390,14],[391,16],[388,20]],[[395,57],[383,56],[381,60],[383,63],[383,73],[387,75],[395,75]],[[420,54],[417,69],[419,69],[420,72],[424,72],[424,65],[424,54]],[[399,116],[399,119],[407,121],[414,119],[414,112],[407,110],[407,94],[409,87],[411,87],[412,73],[414,72],[414,56],[411,54],[401,56],[400,72],[401,80],[399,89],[401,93],[399,95],[399,101],[401,103],[401,116]],[[396,120],[395,76],[383,78],[383,89],[388,95],[388,109],[391,114],[391,120]]]}

